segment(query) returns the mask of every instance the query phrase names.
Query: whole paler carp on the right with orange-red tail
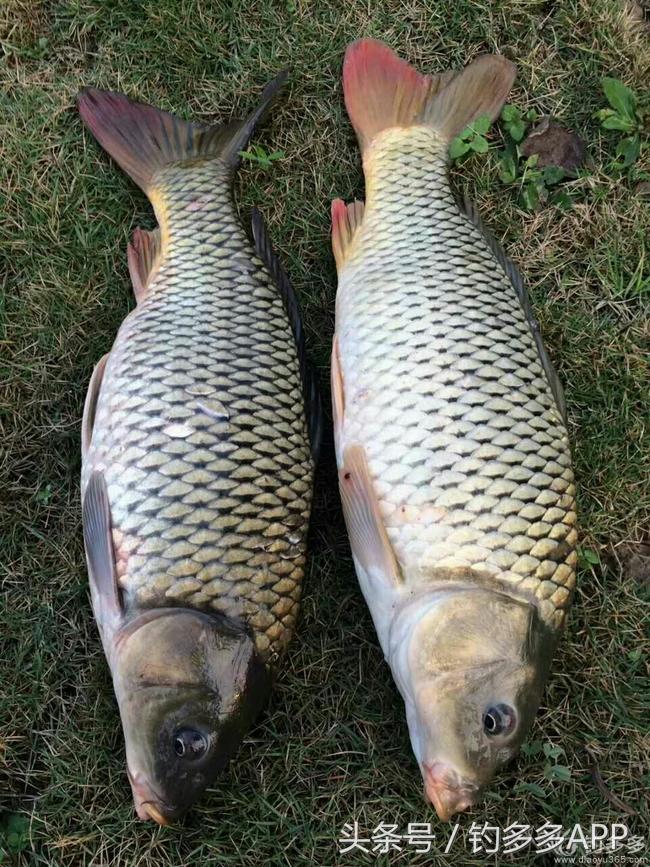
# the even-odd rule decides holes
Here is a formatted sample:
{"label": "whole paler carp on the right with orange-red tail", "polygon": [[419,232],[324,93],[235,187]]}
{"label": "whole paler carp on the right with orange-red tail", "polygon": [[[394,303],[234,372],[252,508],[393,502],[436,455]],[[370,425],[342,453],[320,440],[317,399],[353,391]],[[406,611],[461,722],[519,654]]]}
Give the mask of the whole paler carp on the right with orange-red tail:
{"label": "whole paler carp on the right with orange-red tail", "polygon": [[575,586],[562,388],[521,277],[446,172],[514,76],[498,56],[420,75],[373,40],[343,67],[366,201],[332,206],[339,487],[442,819],[518,750]]}

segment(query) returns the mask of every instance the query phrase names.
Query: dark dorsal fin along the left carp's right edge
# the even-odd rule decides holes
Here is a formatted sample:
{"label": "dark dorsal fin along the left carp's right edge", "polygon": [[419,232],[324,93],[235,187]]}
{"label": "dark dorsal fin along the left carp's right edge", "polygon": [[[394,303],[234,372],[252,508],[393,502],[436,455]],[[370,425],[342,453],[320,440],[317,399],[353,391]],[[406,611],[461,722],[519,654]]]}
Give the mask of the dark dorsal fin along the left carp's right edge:
{"label": "dark dorsal fin along the left carp's right edge", "polygon": [[305,399],[309,438],[311,440],[311,452],[314,460],[318,460],[322,437],[322,408],[316,376],[309,359],[307,358],[305,335],[300,316],[300,305],[298,304],[296,293],[293,291],[293,287],[289,282],[286,271],[282,267],[280,260],[273,249],[271,239],[269,238],[266,226],[264,225],[264,220],[257,208],[253,208],[252,210],[251,225],[257,255],[269,269],[269,272],[278,287],[278,291],[282,296],[284,308],[287,311],[287,316],[291,323],[291,329],[298,349],[298,361],[300,363],[300,375],[302,377],[302,389]]}

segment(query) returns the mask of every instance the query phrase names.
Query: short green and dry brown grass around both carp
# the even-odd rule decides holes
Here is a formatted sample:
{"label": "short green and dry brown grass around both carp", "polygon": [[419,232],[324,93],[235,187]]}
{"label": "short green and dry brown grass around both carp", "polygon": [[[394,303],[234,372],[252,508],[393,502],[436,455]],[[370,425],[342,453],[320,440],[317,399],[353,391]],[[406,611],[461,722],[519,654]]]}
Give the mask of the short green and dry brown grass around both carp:
{"label": "short green and dry brown grass around both carp", "polygon": [[[575,182],[583,195],[567,212],[521,211],[490,155],[453,171],[530,286],[566,388],[581,544],[600,559],[582,569],[531,733],[537,746],[460,821],[464,834],[472,821],[537,826],[545,818],[565,826],[626,821],[644,833],[649,715],[639,650],[648,588],[614,554],[647,541],[650,526],[643,350],[650,216],[635,185],[608,173],[616,134],[594,119],[605,104],[603,76],[638,92],[647,85],[640,15],[615,0],[2,4],[0,811],[26,823],[16,846],[23,851],[10,863],[497,863],[472,856],[462,842],[442,854],[449,831],[425,808],[403,709],[354,578],[330,439],[302,617],[270,706],[228,772],[177,827],[134,816],[88,602],[81,410],[92,366],[133,304],[127,239],[153,218],[144,196],[83,134],[74,96],[82,85],[110,87],[215,120],[246,110],[275,72],[291,67],[290,87],[255,139],[286,156],[266,170],[246,161],[235,192],[242,214],[256,204],[267,217],[327,394],[335,295],[329,201],[363,191],[340,68],[345,45],[361,35],[386,40],[429,70],[501,50],[519,67],[511,101],[552,112],[587,142],[590,172]],[[548,753],[552,747],[564,753]],[[549,772],[547,753],[570,775]],[[639,815],[603,796],[592,757]],[[380,822],[405,829],[432,821],[436,853],[339,855],[341,827],[355,818],[366,831]],[[518,863],[531,859],[525,853]]]}

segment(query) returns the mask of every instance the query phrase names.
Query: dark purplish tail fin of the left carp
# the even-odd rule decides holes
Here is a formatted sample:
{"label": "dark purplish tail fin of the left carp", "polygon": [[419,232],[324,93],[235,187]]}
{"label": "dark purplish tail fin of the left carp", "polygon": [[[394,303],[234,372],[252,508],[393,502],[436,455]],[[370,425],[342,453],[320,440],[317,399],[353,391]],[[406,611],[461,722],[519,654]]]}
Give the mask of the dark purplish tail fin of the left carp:
{"label": "dark purplish tail fin of the left carp", "polygon": [[86,88],[77,98],[84,124],[145,193],[156,172],[169,163],[197,158],[223,160],[234,168],[256,124],[287,78],[281,72],[264,88],[257,107],[244,120],[205,126],[181,120],[121,93]]}

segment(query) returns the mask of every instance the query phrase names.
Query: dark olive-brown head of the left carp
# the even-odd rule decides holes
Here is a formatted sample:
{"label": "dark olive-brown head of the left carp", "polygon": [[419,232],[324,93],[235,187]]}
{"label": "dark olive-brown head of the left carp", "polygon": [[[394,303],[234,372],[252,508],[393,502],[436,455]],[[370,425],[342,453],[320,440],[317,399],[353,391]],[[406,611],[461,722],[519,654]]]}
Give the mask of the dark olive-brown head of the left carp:
{"label": "dark olive-brown head of the left carp", "polygon": [[227,764],[270,675],[243,628],[180,608],[128,622],[111,657],[136,811],[169,824]]}

